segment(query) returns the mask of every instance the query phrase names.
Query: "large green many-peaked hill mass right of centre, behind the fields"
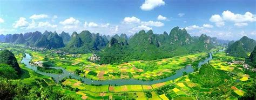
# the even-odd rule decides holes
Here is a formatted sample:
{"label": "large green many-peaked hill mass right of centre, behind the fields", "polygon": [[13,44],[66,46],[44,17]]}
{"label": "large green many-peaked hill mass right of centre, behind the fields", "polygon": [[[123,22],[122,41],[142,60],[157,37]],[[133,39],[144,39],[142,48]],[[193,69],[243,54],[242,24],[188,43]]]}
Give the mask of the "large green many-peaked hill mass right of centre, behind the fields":
{"label": "large green many-peaked hill mass right of centre, behind the fields", "polygon": [[[118,46],[110,46],[113,41]],[[125,43],[128,40],[127,44]],[[152,60],[167,58],[172,56],[185,55],[188,53],[209,51],[214,48],[211,42],[211,37],[202,34],[200,37],[193,39],[190,34],[187,33],[186,29],[179,29],[174,27],[170,34],[166,32],[163,34],[154,34],[152,30],[145,32],[140,30],[138,33],[127,38],[123,36],[114,35],[103,50],[98,52],[98,55],[102,58],[101,63],[119,63],[120,61],[130,60]],[[116,55],[122,53],[127,55],[125,58],[116,57],[111,59],[113,51]],[[108,57],[108,58],[105,58]],[[114,62],[114,61],[117,62]]]}

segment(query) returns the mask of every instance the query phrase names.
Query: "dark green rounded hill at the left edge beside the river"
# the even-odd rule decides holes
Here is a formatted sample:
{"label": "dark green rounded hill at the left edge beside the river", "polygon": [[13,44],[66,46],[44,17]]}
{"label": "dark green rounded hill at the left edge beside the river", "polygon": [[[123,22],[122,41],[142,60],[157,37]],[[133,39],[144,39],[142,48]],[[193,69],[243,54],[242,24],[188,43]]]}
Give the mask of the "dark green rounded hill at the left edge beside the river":
{"label": "dark green rounded hill at the left edge beside the river", "polygon": [[17,71],[18,74],[21,74],[21,67],[19,67],[17,59],[15,58],[14,53],[12,53],[11,51],[0,51],[0,63],[10,65],[12,68],[15,69],[15,71]]}

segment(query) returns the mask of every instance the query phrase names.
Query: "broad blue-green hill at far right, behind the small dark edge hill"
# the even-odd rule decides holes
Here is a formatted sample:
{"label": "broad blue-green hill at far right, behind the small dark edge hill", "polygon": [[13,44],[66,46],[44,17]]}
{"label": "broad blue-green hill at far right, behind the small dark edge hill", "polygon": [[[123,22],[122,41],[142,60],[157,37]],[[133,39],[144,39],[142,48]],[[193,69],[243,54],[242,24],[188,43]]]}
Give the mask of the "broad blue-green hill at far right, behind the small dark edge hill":
{"label": "broad blue-green hill at far right, behind the small dark edge hill", "polygon": [[247,52],[252,52],[256,42],[253,39],[249,39],[247,36],[243,36],[240,40],[233,43],[228,43],[226,53],[234,57],[247,57]]}

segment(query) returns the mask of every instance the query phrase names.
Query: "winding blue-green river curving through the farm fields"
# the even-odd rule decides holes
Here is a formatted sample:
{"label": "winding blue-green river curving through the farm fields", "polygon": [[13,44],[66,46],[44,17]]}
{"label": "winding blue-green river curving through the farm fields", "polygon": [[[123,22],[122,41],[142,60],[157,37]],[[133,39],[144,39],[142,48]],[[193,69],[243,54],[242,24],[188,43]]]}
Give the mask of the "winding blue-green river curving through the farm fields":
{"label": "winding blue-green river curving through the farm fields", "polygon": [[[151,85],[151,84],[156,84],[156,83],[160,83],[160,82],[177,79],[180,76],[183,76],[183,72],[187,72],[187,73],[194,72],[194,69],[192,68],[192,66],[187,65],[186,67],[181,68],[180,70],[177,70],[176,74],[174,74],[172,76],[169,76],[164,79],[153,80],[153,81],[142,81],[142,80],[136,80],[136,79],[91,80],[91,79],[83,78],[74,73],[68,72],[62,67],[51,67],[51,68],[63,70],[62,74],[52,74],[52,73],[45,73],[45,72],[38,71],[37,66],[31,65],[29,63],[29,61],[32,59],[32,57],[28,53],[26,53],[25,55],[26,56],[22,59],[21,63],[25,64],[27,68],[30,68],[31,70],[35,71],[36,73],[52,77],[55,80],[55,82],[58,82],[59,80],[62,80],[63,78],[69,78],[69,76],[71,76],[71,78],[74,78],[74,79],[82,79],[82,81],[86,84],[102,84],[102,85],[111,84],[111,85],[118,85],[118,86],[127,85],[127,84]],[[209,60],[212,59],[212,54],[210,53],[209,55],[210,55],[210,57],[199,62],[199,64],[198,64],[199,68],[201,67],[201,65],[207,63]]]}

